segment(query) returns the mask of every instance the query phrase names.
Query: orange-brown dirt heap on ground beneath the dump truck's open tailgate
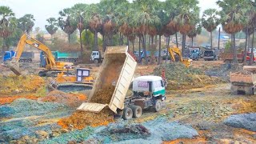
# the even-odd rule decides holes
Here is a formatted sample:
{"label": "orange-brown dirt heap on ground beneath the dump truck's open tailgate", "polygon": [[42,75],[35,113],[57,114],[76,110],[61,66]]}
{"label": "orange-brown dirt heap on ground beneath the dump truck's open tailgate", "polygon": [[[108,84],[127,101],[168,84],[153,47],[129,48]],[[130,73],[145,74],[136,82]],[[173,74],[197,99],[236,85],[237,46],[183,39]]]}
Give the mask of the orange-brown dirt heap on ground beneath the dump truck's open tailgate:
{"label": "orange-brown dirt heap on ground beneath the dump truck's open tailgate", "polygon": [[62,118],[58,121],[58,125],[62,128],[74,126],[78,130],[82,130],[86,126],[106,126],[110,122],[114,122],[113,114],[110,109],[104,109],[99,113],[77,110],[69,118]]}

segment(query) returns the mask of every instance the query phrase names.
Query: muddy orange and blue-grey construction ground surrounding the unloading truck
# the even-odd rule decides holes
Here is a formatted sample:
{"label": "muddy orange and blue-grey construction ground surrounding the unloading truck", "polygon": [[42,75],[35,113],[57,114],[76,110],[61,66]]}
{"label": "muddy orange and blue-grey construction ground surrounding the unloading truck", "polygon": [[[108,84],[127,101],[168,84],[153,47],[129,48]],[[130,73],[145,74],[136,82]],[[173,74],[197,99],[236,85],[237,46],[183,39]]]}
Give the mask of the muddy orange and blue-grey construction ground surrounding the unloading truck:
{"label": "muddy orange and blue-grey construction ground surrounding the unloading truck", "polygon": [[[160,112],[143,110],[141,118],[90,125],[92,119],[76,111],[88,95],[47,90],[52,78],[38,77],[38,64],[30,65],[19,77],[0,65],[0,143],[256,143],[256,96],[230,94],[230,71],[242,66],[202,60],[190,69],[163,64],[170,81]],[[134,76],[160,75],[162,67],[137,66]],[[87,68],[96,78],[99,67]],[[71,115],[72,123],[63,123]]]}

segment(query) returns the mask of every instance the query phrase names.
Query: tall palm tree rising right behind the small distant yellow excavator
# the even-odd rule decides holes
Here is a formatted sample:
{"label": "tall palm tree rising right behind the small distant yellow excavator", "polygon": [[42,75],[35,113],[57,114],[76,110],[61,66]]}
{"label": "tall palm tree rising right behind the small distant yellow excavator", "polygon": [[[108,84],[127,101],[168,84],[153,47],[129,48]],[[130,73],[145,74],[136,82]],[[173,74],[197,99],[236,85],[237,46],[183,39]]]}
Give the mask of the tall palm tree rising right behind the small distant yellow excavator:
{"label": "tall palm tree rising right behind the small distant yellow excavator", "polygon": [[178,2],[179,14],[175,16],[174,22],[179,26],[182,34],[182,56],[184,56],[186,34],[194,29],[199,19],[198,0],[183,0]]}

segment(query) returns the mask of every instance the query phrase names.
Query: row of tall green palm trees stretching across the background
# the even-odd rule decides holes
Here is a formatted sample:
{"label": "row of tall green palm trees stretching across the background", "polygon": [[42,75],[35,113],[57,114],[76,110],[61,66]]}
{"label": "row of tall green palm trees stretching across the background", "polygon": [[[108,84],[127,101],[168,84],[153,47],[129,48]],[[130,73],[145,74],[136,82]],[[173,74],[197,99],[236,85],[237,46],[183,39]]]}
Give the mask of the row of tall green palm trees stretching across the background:
{"label": "row of tall green palm trees stretching across the background", "polygon": [[[180,47],[184,52],[186,36],[192,38],[193,41],[193,38],[201,33],[203,27],[210,32],[210,44],[213,47],[212,32],[218,25],[222,25],[222,29],[227,34],[231,34],[234,62],[236,63],[238,60],[234,41],[235,34],[241,30],[245,32],[246,42],[247,35],[254,35],[256,2],[254,0],[218,0],[216,3],[221,10],[205,10],[201,18],[198,0],[166,0],[165,2],[158,0],[134,0],[133,2],[101,0],[97,4],[90,5],[78,3],[61,10],[58,18],[48,18],[48,25],[45,27],[51,35],[60,28],[68,35],[69,41],[70,34],[78,30],[81,51],[83,51],[82,32],[84,30],[90,30],[94,34],[93,50],[98,50],[98,34],[102,35],[103,50],[106,50],[106,46],[114,45],[114,36],[118,36],[119,45],[124,45],[126,41],[126,45],[129,46],[129,42],[132,42],[133,50],[134,41],[137,38],[139,51],[149,49],[150,47],[147,46],[152,46],[154,38],[158,37],[158,63],[160,63],[160,39],[162,36],[167,38],[167,45],[169,45],[170,36],[175,35],[178,46],[177,34],[182,34],[182,46]],[[17,19],[10,8],[6,6],[0,6],[0,16],[0,37],[4,38],[4,42],[17,28],[30,32],[34,26],[33,15],[26,14],[24,18]],[[246,50],[245,47],[245,56]],[[141,58],[140,53],[139,58]],[[146,53],[145,58],[147,64]]]}

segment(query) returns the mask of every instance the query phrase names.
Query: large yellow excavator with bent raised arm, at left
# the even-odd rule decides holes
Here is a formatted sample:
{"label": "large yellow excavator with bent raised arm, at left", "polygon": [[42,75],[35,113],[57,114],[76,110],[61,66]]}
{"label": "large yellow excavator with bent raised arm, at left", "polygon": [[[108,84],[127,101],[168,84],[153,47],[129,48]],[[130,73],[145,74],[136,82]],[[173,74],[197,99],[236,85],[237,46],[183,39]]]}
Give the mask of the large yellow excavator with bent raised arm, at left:
{"label": "large yellow excavator with bent raised arm, at left", "polygon": [[23,34],[18,42],[18,46],[15,50],[14,58],[8,63],[10,70],[12,70],[16,75],[22,74],[21,70],[19,70],[18,61],[22,55],[22,52],[26,44],[33,46],[38,50],[42,50],[45,54],[45,59],[46,59],[45,70],[40,71],[39,76],[56,76],[58,73],[65,71],[67,67],[70,68],[70,66],[73,65],[73,63],[70,63],[70,62],[55,62],[54,55],[46,45],[44,45],[42,42],[39,42],[34,38],[31,38],[27,34]]}

